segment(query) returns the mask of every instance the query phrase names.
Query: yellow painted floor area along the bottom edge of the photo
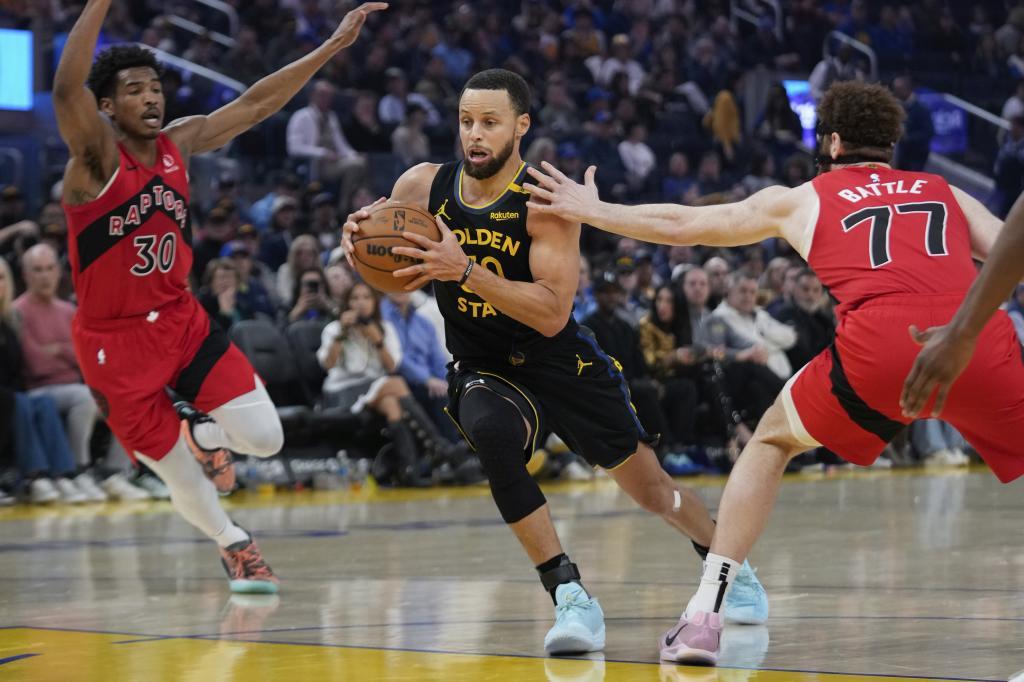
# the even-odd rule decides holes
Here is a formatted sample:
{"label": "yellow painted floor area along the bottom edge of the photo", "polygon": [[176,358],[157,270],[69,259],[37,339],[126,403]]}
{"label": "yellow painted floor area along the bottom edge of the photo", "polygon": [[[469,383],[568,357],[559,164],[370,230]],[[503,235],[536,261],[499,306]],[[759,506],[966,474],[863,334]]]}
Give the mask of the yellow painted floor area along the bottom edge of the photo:
{"label": "yellow painted floor area along the bottom edge of the photo", "polygon": [[126,635],[72,630],[0,630],[0,660],[36,654],[0,665],[0,677],[10,682],[906,682],[921,679],[658,666],[605,662],[599,657],[535,658],[225,639],[170,638],[116,643],[130,639]]}

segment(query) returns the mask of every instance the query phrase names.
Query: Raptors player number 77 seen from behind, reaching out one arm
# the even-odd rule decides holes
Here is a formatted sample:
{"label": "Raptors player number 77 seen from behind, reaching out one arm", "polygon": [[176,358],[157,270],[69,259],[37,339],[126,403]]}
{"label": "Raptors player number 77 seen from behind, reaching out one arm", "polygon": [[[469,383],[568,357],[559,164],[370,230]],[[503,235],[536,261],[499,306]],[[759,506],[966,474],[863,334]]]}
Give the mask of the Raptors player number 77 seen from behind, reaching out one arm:
{"label": "Raptors player number 77 seen from behind, reaching out one arm", "polygon": [[[697,593],[658,641],[664,659],[717,660],[722,599],[764,529],[791,458],[823,444],[867,465],[908,423],[899,399],[919,350],[916,329],[949,321],[975,279],[972,257],[984,260],[999,231],[997,218],[941,177],[889,166],[902,120],[885,88],[834,85],[818,108],[823,172],[736,204],[605,204],[593,168],[586,186],[551,166],[548,175],[531,171],[536,185],[523,185],[532,193],[530,211],[647,242],[784,239],[839,301],[835,343],[786,383],[732,470]],[[1024,474],[1024,364],[1006,314],[988,323],[977,347],[941,417],[1006,482]]]}

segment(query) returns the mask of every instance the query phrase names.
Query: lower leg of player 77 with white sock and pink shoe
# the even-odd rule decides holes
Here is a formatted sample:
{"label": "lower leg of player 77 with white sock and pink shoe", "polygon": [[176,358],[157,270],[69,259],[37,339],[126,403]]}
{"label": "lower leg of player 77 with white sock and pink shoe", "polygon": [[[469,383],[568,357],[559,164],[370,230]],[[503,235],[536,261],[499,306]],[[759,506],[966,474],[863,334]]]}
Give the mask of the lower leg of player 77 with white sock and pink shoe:
{"label": "lower leg of player 77 with white sock and pink shoe", "polygon": [[734,579],[738,581],[744,558],[764,531],[785,465],[806,450],[793,432],[782,399],[776,400],[761,418],[754,438],[732,469],[697,593],[679,623],[658,640],[664,660],[717,663],[721,611],[729,588]]}

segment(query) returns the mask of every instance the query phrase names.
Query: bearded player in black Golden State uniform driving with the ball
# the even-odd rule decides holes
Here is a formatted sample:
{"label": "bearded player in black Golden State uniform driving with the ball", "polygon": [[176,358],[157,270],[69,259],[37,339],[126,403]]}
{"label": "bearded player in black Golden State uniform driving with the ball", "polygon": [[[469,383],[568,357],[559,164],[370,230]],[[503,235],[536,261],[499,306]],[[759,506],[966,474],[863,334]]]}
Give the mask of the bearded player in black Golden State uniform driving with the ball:
{"label": "bearded player in black Golden State uniform driving with the ball", "polygon": [[[562,551],[544,495],[526,471],[540,438],[554,431],[644,509],[688,536],[701,554],[714,523],[697,496],[662,470],[618,364],[572,317],[581,225],[527,214],[519,142],[529,129],[528,112],[529,88],[512,72],[484,71],[466,83],[459,104],[464,160],[409,169],[390,198],[434,214],[442,240],[406,232],[409,247],[394,253],[422,262],[394,275],[416,275],[410,290],[434,282],[455,358],[449,413],[479,457],[502,518],[555,601],[545,648],[596,651],[604,646],[601,608]],[[348,254],[369,208],[348,216]],[[748,592],[766,600],[745,570],[756,585]],[[738,621],[759,610],[735,606]]]}

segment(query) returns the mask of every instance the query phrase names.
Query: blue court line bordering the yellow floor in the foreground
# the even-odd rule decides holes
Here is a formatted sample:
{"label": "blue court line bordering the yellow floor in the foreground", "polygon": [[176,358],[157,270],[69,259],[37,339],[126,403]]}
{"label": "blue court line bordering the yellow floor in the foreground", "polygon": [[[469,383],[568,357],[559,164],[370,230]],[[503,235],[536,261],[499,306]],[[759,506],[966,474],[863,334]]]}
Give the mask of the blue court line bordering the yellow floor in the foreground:
{"label": "blue court line bordering the yellow floor in the foreground", "polygon": [[[125,633],[125,632],[110,632],[104,630],[87,630],[79,628],[56,628],[56,627],[34,627],[34,626],[7,626],[0,628],[2,630],[44,630],[44,631],[56,631],[56,632],[77,632],[77,633],[87,633],[93,635],[131,635],[135,634],[138,637],[152,637],[154,639],[193,639],[198,641],[224,641],[224,642],[238,642],[240,644],[276,644],[280,646],[316,646],[323,648],[331,649],[359,649],[367,651],[404,651],[409,653],[445,653],[450,655],[462,655],[462,656],[494,656],[499,658],[529,658],[529,659],[545,659],[551,658],[552,656],[542,656],[530,653],[492,653],[487,651],[447,651],[444,649],[424,649],[424,648],[412,648],[412,647],[401,647],[401,646],[366,646],[359,644],[327,644],[324,642],[286,642],[280,640],[265,640],[265,639],[226,639],[223,636],[209,635],[209,636],[194,636],[194,635],[182,635],[182,636],[163,636],[163,635],[143,635],[141,633]],[[591,660],[586,656],[558,656],[557,659],[572,659],[572,660]],[[621,664],[634,664],[643,666],[657,666],[660,665],[658,660],[635,660],[628,658],[604,658],[605,663],[621,663]],[[679,668],[687,668],[686,666],[679,666]],[[706,668],[698,668],[697,670],[707,670]],[[719,666],[718,670],[758,670],[771,673],[805,673],[807,675],[846,675],[846,676],[859,676],[859,677],[897,677],[907,680],[954,680],[955,682],[998,682],[1001,678],[998,677],[935,677],[930,675],[901,675],[901,674],[890,674],[890,673],[848,673],[840,671],[825,671],[825,670],[802,670],[796,668],[743,668],[739,666],[729,667],[729,666]]]}

